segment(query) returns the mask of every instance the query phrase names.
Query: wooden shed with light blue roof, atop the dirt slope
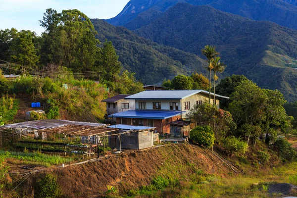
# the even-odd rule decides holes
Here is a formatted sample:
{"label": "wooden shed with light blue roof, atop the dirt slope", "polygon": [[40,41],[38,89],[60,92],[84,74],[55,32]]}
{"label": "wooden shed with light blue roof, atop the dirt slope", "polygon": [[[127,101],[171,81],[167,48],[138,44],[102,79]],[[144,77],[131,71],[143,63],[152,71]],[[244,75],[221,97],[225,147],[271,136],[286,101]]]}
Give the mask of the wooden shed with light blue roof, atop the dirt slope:
{"label": "wooden shed with light blue roof, atop the dirt slope", "polygon": [[[118,129],[110,132],[108,135],[117,134],[117,136],[108,136],[108,145],[110,148],[117,149],[145,149],[153,147],[153,131],[155,127],[112,125],[108,128]],[[120,141],[119,141],[120,140]]]}

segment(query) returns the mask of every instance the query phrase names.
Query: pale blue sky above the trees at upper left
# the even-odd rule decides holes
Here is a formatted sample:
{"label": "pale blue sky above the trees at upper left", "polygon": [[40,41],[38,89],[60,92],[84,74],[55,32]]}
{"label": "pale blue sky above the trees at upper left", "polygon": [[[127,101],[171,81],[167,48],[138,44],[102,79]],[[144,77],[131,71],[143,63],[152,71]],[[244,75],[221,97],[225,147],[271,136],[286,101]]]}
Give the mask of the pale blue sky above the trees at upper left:
{"label": "pale blue sky above the trees at upper left", "polygon": [[89,18],[108,19],[122,11],[129,0],[0,0],[0,29],[44,31],[38,20],[48,8],[61,12],[78,9]]}

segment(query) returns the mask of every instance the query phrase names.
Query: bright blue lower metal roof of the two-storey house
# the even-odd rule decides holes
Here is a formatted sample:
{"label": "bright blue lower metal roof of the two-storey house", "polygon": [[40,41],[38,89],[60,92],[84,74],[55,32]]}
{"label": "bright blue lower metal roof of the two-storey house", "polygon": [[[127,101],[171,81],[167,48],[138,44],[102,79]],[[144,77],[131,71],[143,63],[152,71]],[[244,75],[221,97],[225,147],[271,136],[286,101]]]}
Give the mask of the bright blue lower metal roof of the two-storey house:
{"label": "bright blue lower metal roof of the two-storey house", "polygon": [[[186,111],[182,111],[186,113]],[[108,117],[120,118],[143,118],[143,119],[168,119],[180,115],[181,111],[162,111],[162,110],[129,110],[108,115]]]}

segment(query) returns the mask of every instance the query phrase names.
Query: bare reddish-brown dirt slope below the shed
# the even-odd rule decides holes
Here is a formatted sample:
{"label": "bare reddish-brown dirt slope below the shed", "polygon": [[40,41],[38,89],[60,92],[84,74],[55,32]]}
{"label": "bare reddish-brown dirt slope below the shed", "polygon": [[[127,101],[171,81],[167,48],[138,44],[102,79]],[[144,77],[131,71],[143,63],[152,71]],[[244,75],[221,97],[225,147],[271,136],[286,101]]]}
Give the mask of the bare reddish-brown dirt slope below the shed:
{"label": "bare reddish-brown dirt slope below the shed", "polygon": [[[146,151],[129,150],[98,162],[49,170],[47,174],[57,176],[65,198],[97,198],[105,195],[106,185],[116,187],[123,195],[131,189],[150,184],[153,177],[189,180],[197,170],[216,177],[227,177],[232,172],[209,150],[170,144]],[[36,181],[44,174],[36,174],[28,180],[23,187],[25,195],[31,196],[31,186],[35,188]]]}

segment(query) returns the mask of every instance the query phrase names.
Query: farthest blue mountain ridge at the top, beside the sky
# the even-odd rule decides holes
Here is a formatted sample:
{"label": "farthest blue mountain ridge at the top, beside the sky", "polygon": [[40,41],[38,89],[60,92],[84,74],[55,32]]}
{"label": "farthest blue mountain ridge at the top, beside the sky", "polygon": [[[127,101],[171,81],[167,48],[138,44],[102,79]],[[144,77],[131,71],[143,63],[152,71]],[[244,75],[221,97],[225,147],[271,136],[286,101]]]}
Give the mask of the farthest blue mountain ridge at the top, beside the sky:
{"label": "farthest blue mountain ridge at the top, beside the sky", "polygon": [[[178,2],[209,5],[251,20],[267,20],[297,29],[297,0],[130,0],[122,12],[106,21],[129,29],[133,26],[131,30],[134,30],[147,25],[149,19],[158,17],[156,13],[164,12]],[[143,12],[146,13],[140,15]],[[141,23],[143,20],[146,21],[144,24]]]}

